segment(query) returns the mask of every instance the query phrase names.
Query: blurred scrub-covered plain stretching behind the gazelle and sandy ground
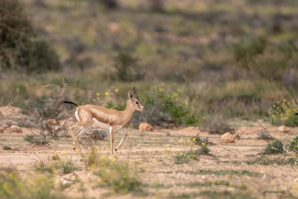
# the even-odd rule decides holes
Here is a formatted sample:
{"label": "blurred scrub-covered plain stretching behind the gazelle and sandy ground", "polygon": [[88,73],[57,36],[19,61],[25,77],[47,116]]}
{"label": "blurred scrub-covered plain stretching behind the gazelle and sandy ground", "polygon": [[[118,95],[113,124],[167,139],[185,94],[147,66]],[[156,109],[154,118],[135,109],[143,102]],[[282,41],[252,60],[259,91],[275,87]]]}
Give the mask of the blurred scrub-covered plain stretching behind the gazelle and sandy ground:
{"label": "blurred scrub-covered plain stretching behind the gazelle and sandy ground", "polygon": [[63,98],[119,110],[136,86],[132,126],[298,125],[298,1],[0,0],[0,105],[65,83]]}

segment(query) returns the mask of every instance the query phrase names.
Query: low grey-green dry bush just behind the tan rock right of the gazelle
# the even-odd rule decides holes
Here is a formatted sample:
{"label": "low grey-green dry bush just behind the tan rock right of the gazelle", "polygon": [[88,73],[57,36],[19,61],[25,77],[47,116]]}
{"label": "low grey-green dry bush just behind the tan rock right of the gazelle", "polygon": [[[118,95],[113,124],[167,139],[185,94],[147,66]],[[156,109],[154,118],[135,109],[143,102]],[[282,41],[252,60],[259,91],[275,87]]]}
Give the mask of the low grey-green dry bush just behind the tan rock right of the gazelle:
{"label": "low grey-green dry bush just behind the tan rock right of the gazelle", "polygon": [[234,133],[236,131],[236,129],[231,126],[222,115],[203,118],[200,128],[203,131],[216,134],[224,134],[226,132]]}

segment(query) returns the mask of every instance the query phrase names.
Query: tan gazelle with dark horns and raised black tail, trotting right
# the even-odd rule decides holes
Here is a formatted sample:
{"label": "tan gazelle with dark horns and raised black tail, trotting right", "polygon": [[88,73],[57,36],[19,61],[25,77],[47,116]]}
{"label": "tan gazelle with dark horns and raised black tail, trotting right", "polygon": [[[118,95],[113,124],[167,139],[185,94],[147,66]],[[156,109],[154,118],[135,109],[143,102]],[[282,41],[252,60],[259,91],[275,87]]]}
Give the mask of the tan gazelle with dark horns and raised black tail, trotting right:
{"label": "tan gazelle with dark horns and raised black tail, trotting right", "polygon": [[[121,129],[131,119],[135,110],[145,110],[144,106],[139,101],[139,97],[135,87],[134,92],[135,98],[133,98],[133,92],[128,92],[129,100],[127,101],[126,108],[123,111],[91,104],[77,105],[71,101],[63,101],[64,103],[71,103],[76,106],[75,117],[78,122],[70,124],[70,131],[74,144],[73,149],[75,150],[77,138],[80,134],[83,133],[84,127],[92,123],[100,128],[109,129],[111,140],[111,154],[113,154],[114,130]],[[74,134],[75,127],[80,127],[80,129]],[[121,147],[126,136],[127,132],[125,133],[119,145],[115,148],[115,151],[117,151]]]}

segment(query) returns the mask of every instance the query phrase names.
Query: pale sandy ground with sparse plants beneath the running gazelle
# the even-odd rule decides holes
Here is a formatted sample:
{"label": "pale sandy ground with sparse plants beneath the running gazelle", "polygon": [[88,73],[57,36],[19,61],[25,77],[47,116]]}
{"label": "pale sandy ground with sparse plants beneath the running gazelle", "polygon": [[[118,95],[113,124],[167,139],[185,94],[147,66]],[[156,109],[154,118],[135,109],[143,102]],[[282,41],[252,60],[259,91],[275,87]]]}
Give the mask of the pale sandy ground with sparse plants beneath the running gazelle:
{"label": "pale sandy ground with sparse plants beneath the running gazelle", "polygon": [[[268,125],[267,125],[268,126]],[[248,160],[260,157],[267,141],[255,140],[259,126],[241,127],[241,139],[231,144],[220,143],[220,135],[201,132],[195,127],[184,129],[163,129],[141,134],[138,130],[129,130],[127,139],[117,153],[109,155],[109,140],[97,141],[100,153],[108,157],[127,160],[137,168],[146,190],[146,196],[135,194],[110,194],[108,188],[96,186],[98,177],[86,169],[75,171],[82,181],[65,189],[66,196],[72,198],[295,198],[298,197],[298,167],[293,165],[247,165]],[[295,137],[298,129],[289,133],[278,132],[277,127],[268,128],[272,136],[285,143]],[[167,132],[170,135],[167,135]],[[115,136],[115,146],[122,139],[124,132]],[[212,155],[201,155],[199,161],[175,164],[173,156],[189,150],[193,136],[209,137],[215,145],[209,145]],[[0,168],[14,165],[18,170],[31,171],[38,160],[49,161],[51,154],[82,165],[82,154],[73,152],[69,137],[57,138],[49,146],[28,145],[23,141],[23,134],[1,134],[1,143],[6,143],[12,150],[0,149]],[[186,146],[184,146],[186,145]],[[114,146],[114,147],[115,147]],[[83,150],[84,152],[84,150]],[[292,154],[269,156],[291,158]],[[141,172],[142,171],[142,172]],[[241,173],[242,171],[242,173]],[[69,178],[70,175],[56,174],[57,179]],[[85,192],[80,191],[81,186]],[[231,193],[224,195],[219,193]],[[232,197],[231,197],[232,196]],[[245,197],[244,197],[245,196]],[[100,198],[100,197],[99,197]]]}

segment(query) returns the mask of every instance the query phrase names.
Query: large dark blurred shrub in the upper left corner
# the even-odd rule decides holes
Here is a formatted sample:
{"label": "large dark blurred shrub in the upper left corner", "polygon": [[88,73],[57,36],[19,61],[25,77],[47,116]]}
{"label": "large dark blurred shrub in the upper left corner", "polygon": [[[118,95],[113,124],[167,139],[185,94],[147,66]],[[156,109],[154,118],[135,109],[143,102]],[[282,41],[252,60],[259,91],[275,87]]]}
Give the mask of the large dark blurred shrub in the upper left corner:
{"label": "large dark blurred shrub in the upper left corner", "polygon": [[57,53],[37,38],[18,0],[0,0],[0,7],[1,70],[27,73],[60,70]]}

